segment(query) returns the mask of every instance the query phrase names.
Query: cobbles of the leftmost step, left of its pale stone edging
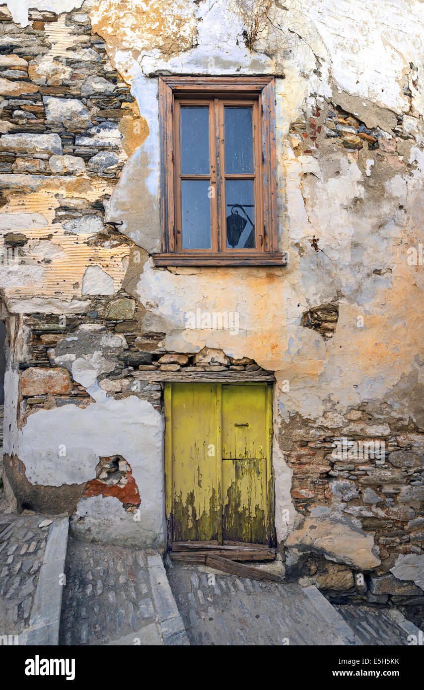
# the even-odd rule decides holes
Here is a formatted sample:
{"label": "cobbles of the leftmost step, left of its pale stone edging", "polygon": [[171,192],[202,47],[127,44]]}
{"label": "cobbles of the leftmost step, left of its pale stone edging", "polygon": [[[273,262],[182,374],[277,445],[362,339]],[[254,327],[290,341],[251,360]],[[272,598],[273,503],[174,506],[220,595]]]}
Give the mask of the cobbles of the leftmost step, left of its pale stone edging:
{"label": "cobbles of the leftmost step, left of its pale stone edging", "polygon": [[28,627],[51,524],[47,515],[8,513],[1,500],[0,635],[21,635]]}

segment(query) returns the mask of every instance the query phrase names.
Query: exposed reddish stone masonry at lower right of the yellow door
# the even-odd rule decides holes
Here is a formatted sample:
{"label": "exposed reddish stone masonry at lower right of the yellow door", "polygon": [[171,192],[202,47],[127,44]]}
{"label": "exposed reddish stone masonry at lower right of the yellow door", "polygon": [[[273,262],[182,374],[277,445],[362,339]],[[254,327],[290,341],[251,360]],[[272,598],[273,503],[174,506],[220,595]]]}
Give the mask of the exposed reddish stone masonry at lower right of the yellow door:
{"label": "exposed reddish stone masonry at lower right of the yellow door", "polygon": [[[343,446],[336,445],[343,438],[354,442],[346,444],[347,453],[338,452]],[[394,601],[415,595],[418,603],[424,603],[419,587],[400,583],[389,573],[399,554],[424,553],[424,433],[413,425],[388,423],[387,417],[373,415],[363,404],[344,417],[329,413],[320,426],[306,426],[303,421],[293,431],[287,427],[285,442],[296,511],[359,520],[365,533],[373,535],[381,560],[369,589],[365,581],[363,591],[358,591],[351,569],[325,560],[319,564],[319,559],[306,559],[303,574],[315,578],[322,589],[345,591],[345,596],[358,599],[367,597],[369,602],[385,603],[389,595]],[[294,570],[300,573],[298,564]]]}

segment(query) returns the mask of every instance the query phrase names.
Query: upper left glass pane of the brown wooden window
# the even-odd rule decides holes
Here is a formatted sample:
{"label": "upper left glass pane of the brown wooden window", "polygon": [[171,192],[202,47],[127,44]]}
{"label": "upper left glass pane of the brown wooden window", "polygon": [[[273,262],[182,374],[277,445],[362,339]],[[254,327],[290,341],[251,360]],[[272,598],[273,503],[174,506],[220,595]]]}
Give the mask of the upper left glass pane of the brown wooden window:
{"label": "upper left glass pane of the brown wooden window", "polygon": [[181,108],[182,175],[209,175],[209,106]]}

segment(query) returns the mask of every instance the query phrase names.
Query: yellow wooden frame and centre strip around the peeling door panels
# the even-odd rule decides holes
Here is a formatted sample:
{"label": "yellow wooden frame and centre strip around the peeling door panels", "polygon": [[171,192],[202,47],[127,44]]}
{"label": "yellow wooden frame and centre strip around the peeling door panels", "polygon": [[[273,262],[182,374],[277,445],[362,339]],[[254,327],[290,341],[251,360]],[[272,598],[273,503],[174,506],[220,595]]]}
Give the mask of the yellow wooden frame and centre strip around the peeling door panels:
{"label": "yellow wooden frame and centre strip around the peeling door panels", "polygon": [[[182,382],[180,382],[182,383]],[[188,381],[187,383],[192,383]],[[206,383],[206,381],[205,381]],[[273,476],[273,462],[272,462],[272,444],[273,444],[273,384],[269,382],[215,382],[211,381],[217,386],[217,429],[218,429],[218,445],[216,449],[216,464],[218,477],[218,506],[220,510],[221,520],[218,520],[218,542],[222,543],[222,386],[266,386],[266,408],[265,408],[265,425],[267,432],[267,530],[270,536],[269,546],[275,548],[276,546],[276,526],[275,526],[275,484]],[[193,384],[195,385],[195,384]],[[164,433],[164,489],[165,489],[165,517],[166,517],[166,532],[167,543],[166,551],[172,551],[173,544],[173,514],[172,514],[172,500],[173,500],[173,473],[172,473],[172,382],[166,382],[164,386],[164,417],[165,417],[165,433]]]}

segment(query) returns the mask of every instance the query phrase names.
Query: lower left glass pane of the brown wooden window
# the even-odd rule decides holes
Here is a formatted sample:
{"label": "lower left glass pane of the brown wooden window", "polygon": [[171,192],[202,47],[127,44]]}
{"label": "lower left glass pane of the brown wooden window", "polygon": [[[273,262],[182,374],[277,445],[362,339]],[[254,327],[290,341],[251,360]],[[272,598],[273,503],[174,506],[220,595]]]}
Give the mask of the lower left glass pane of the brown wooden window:
{"label": "lower left glass pane of the brown wooden window", "polygon": [[181,181],[183,249],[211,249],[209,185],[209,179]]}

